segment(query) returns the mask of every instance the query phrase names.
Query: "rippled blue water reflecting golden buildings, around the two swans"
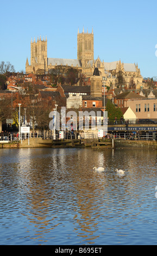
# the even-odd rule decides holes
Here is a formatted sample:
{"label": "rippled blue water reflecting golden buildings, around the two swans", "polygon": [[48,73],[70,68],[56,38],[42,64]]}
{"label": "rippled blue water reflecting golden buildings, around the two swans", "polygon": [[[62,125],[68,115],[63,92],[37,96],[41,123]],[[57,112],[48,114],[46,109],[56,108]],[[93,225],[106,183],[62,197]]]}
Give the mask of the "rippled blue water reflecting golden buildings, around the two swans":
{"label": "rippled blue water reflecting golden buildings, around the two swans", "polygon": [[1,245],[156,245],[156,163],[157,150],[1,149]]}

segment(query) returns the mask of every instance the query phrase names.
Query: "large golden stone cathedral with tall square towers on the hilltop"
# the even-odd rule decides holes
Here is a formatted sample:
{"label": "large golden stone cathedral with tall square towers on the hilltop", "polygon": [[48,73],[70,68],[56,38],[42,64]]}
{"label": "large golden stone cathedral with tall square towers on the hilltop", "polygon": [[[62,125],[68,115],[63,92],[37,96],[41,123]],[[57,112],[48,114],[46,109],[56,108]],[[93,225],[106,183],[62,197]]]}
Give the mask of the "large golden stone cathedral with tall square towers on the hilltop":
{"label": "large golden stone cathedral with tall square towers on the hilltop", "polygon": [[116,76],[122,71],[126,87],[129,88],[130,81],[133,80],[136,88],[142,86],[143,77],[137,64],[116,62],[102,62],[101,58],[94,59],[94,36],[93,29],[89,33],[79,32],[77,35],[77,59],[60,59],[47,57],[47,37],[43,40],[37,37],[37,41],[30,42],[30,65],[28,58],[26,61],[26,74],[45,74],[57,65],[71,66],[79,69],[85,77],[92,77],[95,68],[99,70],[99,80],[101,78],[104,86],[115,85]]}

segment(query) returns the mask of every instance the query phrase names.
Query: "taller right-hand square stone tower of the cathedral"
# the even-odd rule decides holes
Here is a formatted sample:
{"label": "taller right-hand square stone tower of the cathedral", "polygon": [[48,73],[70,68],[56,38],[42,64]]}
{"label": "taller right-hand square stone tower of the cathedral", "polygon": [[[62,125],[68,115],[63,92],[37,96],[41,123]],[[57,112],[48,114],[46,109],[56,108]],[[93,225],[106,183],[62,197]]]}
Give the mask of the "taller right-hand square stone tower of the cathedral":
{"label": "taller right-hand square stone tower of the cathedral", "polygon": [[93,29],[92,33],[85,33],[84,28],[83,32],[77,35],[77,58],[81,60],[83,69],[87,66],[89,60],[94,59],[94,36]]}

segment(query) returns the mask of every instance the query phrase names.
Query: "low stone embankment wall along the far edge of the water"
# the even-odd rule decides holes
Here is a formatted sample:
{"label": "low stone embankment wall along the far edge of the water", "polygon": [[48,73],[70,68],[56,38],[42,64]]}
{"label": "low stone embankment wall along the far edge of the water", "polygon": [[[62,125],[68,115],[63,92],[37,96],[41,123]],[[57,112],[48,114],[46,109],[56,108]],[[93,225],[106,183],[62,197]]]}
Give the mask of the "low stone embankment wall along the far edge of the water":
{"label": "low stone embankment wall along the far edge of the water", "polygon": [[51,139],[30,138],[21,142],[0,143],[1,148],[152,148],[157,149],[157,141],[131,141],[123,139],[65,139],[52,141]]}

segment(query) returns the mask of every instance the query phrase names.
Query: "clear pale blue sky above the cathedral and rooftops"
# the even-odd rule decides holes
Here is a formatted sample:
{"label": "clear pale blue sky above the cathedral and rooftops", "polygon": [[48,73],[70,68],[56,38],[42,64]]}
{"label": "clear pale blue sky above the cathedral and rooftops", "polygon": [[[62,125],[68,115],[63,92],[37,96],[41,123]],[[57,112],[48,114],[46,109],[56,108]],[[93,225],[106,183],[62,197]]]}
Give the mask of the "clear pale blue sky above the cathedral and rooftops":
{"label": "clear pale blue sky above the cathedral and rooftops", "polygon": [[30,40],[47,35],[49,58],[77,59],[77,31],[94,33],[94,56],[138,63],[143,77],[157,76],[157,1],[1,1],[0,62],[16,72],[30,64]]}

